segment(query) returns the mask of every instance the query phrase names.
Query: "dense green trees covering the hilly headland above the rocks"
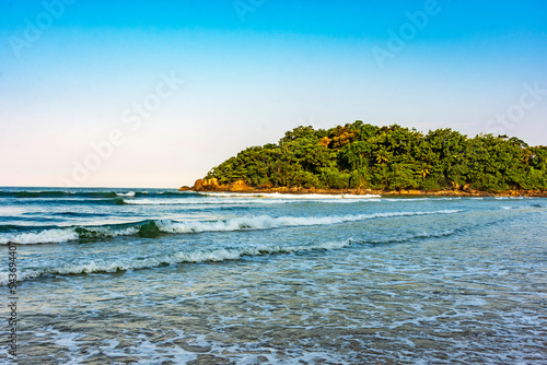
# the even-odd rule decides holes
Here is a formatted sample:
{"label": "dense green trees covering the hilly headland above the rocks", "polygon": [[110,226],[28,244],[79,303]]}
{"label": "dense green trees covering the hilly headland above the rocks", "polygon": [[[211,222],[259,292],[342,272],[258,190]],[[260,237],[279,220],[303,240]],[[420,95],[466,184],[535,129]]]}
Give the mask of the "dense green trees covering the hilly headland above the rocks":
{"label": "dense green trees covering the hilly headland above the rocks", "polygon": [[220,184],[254,187],[546,189],[547,148],[516,138],[451,129],[422,134],[358,120],[324,130],[298,127],[278,144],[252,146],[209,172]]}

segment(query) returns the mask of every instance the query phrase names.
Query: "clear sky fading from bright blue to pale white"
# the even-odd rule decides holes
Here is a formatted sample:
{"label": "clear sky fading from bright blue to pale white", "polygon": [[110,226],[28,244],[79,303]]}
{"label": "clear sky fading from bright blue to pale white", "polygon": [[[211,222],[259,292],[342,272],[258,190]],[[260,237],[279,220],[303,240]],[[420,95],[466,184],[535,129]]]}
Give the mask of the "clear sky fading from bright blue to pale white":
{"label": "clear sky fading from bright blue to pale white", "polygon": [[547,145],[547,2],[0,0],[0,185],[191,185],[300,125]]}

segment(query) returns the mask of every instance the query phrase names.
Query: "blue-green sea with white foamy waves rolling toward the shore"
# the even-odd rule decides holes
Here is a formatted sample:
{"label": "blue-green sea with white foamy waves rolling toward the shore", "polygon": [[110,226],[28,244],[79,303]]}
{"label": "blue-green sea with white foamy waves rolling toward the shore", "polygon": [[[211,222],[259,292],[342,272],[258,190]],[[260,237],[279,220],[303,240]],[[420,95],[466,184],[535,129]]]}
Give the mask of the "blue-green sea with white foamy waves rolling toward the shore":
{"label": "blue-green sea with white foamy waves rolling toward the shore", "polygon": [[0,361],[547,364],[546,223],[543,198],[0,188]]}

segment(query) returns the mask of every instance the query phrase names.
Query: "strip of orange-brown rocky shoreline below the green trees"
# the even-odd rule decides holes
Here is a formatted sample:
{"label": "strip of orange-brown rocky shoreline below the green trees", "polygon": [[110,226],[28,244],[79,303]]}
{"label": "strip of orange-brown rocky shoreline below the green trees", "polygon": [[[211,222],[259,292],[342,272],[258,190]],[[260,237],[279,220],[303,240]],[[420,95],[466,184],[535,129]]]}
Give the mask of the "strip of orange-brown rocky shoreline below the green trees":
{"label": "strip of orange-brown rocky shoreline below the green trees", "polygon": [[294,193],[294,195],[374,195],[374,196],[439,196],[439,197],[536,197],[547,198],[547,191],[543,190],[507,190],[507,191],[481,191],[469,187],[453,190],[377,190],[377,189],[317,189],[301,187],[249,187],[243,180],[230,185],[219,184],[216,178],[198,179],[194,186],[183,186],[179,191],[203,191],[203,192],[242,192],[242,193]]}

